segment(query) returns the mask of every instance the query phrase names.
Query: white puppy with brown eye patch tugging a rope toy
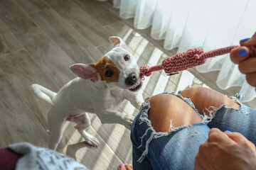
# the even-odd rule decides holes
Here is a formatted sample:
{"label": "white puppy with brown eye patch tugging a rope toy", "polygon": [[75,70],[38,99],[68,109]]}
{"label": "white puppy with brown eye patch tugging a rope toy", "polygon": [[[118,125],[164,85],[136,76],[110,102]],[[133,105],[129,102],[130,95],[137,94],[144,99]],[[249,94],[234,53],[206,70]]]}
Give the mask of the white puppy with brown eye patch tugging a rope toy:
{"label": "white puppy with brown eye patch tugging a rope toy", "polygon": [[52,105],[48,113],[50,149],[55,150],[63,135],[65,120],[76,123],[87,144],[97,147],[99,141],[85,129],[90,126],[89,113],[96,113],[102,123],[119,123],[131,129],[134,116],[117,112],[124,99],[140,108],[142,94],[134,91],[142,87],[139,66],[134,56],[125,49],[121,38],[110,37],[114,48],[97,63],[73,64],[70,69],[78,76],[65,84],[58,93],[39,84],[32,84],[36,95]]}

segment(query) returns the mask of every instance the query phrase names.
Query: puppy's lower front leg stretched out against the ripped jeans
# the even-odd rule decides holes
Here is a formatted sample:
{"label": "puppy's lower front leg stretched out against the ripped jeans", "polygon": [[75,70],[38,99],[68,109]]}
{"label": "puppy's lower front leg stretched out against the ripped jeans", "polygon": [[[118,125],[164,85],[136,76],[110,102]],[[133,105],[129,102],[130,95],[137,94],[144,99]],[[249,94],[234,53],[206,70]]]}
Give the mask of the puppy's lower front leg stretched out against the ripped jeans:
{"label": "puppy's lower front leg stretched out against the ripped jeans", "polygon": [[119,123],[129,130],[132,129],[132,123],[134,120],[133,115],[127,115],[121,112],[105,111],[103,109],[97,110],[96,114],[102,123]]}

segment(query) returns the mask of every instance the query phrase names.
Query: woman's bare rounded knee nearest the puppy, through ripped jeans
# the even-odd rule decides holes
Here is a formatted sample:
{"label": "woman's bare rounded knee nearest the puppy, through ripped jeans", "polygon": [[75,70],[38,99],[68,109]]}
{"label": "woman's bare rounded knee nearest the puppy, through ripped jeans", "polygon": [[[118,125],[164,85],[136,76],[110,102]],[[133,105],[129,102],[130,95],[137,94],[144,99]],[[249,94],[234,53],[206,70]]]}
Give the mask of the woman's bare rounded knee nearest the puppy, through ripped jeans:
{"label": "woman's bare rounded knee nearest the puppy, through ripped jeans", "polygon": [[149,120],[156,132],[168,132],[173,127],[193,125],[201,117],[185,101],[170,94],[159,94],[149,99]]}

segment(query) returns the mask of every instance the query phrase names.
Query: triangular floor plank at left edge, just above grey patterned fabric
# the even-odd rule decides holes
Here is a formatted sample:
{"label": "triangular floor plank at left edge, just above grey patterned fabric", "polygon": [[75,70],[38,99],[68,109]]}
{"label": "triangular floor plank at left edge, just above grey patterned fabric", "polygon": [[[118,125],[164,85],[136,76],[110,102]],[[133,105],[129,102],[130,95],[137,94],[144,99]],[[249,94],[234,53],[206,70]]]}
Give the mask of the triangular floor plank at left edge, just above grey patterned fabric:
{"label": "triangular floor plank at left edge, just above grey patterned fabric", "polygon": [[0,110],[0,147],[24,141],[47,147],[46,130],[6,77],[0,79]]}

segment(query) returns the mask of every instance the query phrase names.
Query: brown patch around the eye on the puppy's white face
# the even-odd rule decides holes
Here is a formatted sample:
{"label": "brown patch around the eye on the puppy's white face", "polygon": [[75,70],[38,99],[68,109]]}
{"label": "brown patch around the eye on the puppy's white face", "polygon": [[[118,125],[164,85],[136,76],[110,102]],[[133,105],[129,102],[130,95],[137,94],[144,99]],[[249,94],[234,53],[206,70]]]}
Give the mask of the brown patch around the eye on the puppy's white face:
{"label": "brown patch around the eye on the puppy's white face", "polygon": [[110,60],[109,57],[102,57],[99,62],[90,64],[91,67],[95,67],[102,78],[102,81],[107,83],[117,82],[119,79],[120,71],[117,66]]}

